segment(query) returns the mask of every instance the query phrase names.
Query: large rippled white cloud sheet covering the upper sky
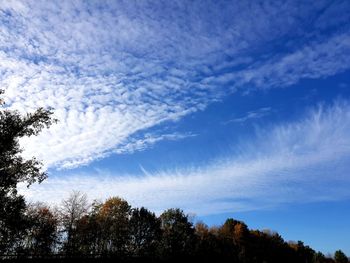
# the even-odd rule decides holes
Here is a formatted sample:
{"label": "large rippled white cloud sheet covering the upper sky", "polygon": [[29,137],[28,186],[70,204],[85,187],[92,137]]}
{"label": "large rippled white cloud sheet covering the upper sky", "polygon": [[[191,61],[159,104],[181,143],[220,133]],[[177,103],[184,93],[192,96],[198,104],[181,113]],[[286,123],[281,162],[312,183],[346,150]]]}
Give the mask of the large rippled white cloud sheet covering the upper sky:
{"label": "large rippled white cloud sheet covering the upper sky", "polygon": [[[75,167],[130,145],[144,149],[152,143],[136,134],[238,88],[349,69],[349,10],[327,1],[1,1],[0,85],[9,107],[53,107],[60,120],[22,141],[27,156]],[[284,37],[303,41],[284,45]],[[271,43],[279,54],[271,55]]]}

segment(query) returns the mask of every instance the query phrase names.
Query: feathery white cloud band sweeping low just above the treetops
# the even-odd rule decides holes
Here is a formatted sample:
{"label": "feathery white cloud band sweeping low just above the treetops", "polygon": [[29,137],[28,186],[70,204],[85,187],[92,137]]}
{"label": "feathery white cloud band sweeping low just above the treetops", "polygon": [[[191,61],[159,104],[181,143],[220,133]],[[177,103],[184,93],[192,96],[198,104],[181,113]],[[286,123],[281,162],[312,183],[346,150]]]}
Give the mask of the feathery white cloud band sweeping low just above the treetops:
{"label": "feathery white cloud band sweeping low just above the treetops", "polygon": [[320,106],[298,121],[263,127],[247,141],[235,147],[241,147],[239,155],[206,167],[144,176],[96,172],[53,177],[22,191],[29,200],[58,203],[77,189],[91,199],[118,195],[157,212],[181,207],[199,215],[350,197],[349,102]]}

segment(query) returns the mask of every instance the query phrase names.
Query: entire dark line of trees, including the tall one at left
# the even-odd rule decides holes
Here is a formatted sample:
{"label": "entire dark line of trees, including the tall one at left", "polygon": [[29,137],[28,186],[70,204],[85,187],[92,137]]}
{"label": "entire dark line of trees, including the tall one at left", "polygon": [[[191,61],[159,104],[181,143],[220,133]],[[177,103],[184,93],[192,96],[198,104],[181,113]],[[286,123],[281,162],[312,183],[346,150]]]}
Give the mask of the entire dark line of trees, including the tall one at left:
{"label": "entire dark line of trees, including the tall one at left", "polygon": [[[3,104],[0,98],[0,106]],[[18,185],[40,183],[47,174],[36,158],[21,156],[19,139],[37,135],[55,121],[50,110],[39,108],[21,115],[0,107],[2,261],[348,262],[341,251],[334,258],[325,257],[300,241],[285,242],[277,233],[250,230],[234,219],[218,227],[193,225],[180,209],[156,216],[146,208],[132,208],[118,197],[89,205],[84,195],[75,192],[59,208],[28,204],[18,193]]]}

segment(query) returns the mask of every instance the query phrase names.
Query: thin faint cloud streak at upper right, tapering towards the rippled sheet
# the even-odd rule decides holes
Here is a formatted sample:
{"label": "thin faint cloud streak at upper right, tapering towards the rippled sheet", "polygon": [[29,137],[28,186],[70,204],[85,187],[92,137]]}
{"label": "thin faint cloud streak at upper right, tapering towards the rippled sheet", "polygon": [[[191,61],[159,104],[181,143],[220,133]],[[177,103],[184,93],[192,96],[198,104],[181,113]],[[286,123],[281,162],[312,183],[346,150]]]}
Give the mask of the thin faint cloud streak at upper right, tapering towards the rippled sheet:
{"label": "thin faint cloud streak at upper right, tapering towards the rippled sheet", "polygon": [[296,84],[301,79],[326,78],[349,69],[350,33],[333,36],[300,49],[258,61],[242,70],[202,80],[206,85],[254,88],[278,88]]}

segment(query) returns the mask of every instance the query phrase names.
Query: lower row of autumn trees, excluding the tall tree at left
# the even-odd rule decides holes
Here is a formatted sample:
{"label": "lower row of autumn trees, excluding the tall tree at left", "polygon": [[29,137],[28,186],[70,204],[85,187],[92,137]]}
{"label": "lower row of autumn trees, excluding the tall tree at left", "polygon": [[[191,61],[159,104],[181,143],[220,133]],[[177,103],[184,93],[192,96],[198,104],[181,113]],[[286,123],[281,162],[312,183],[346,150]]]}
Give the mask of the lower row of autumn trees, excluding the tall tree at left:
{"label": "lower row of autumn trees, excluding the tall tree at left", "polygon": [[132,208],[119,197],[89,205],[85,195],[73,192],[58,208],[30,204],[23,215],[21,229],[8,246],[1,244],[3,255],[120,261],[348,262],[341,251],[334,258],[326,257],[301,241],[286,242],[276,232],[250,230],[231,218],[217,227],[194,225],[180,209],[156,216],[146,208]]}

